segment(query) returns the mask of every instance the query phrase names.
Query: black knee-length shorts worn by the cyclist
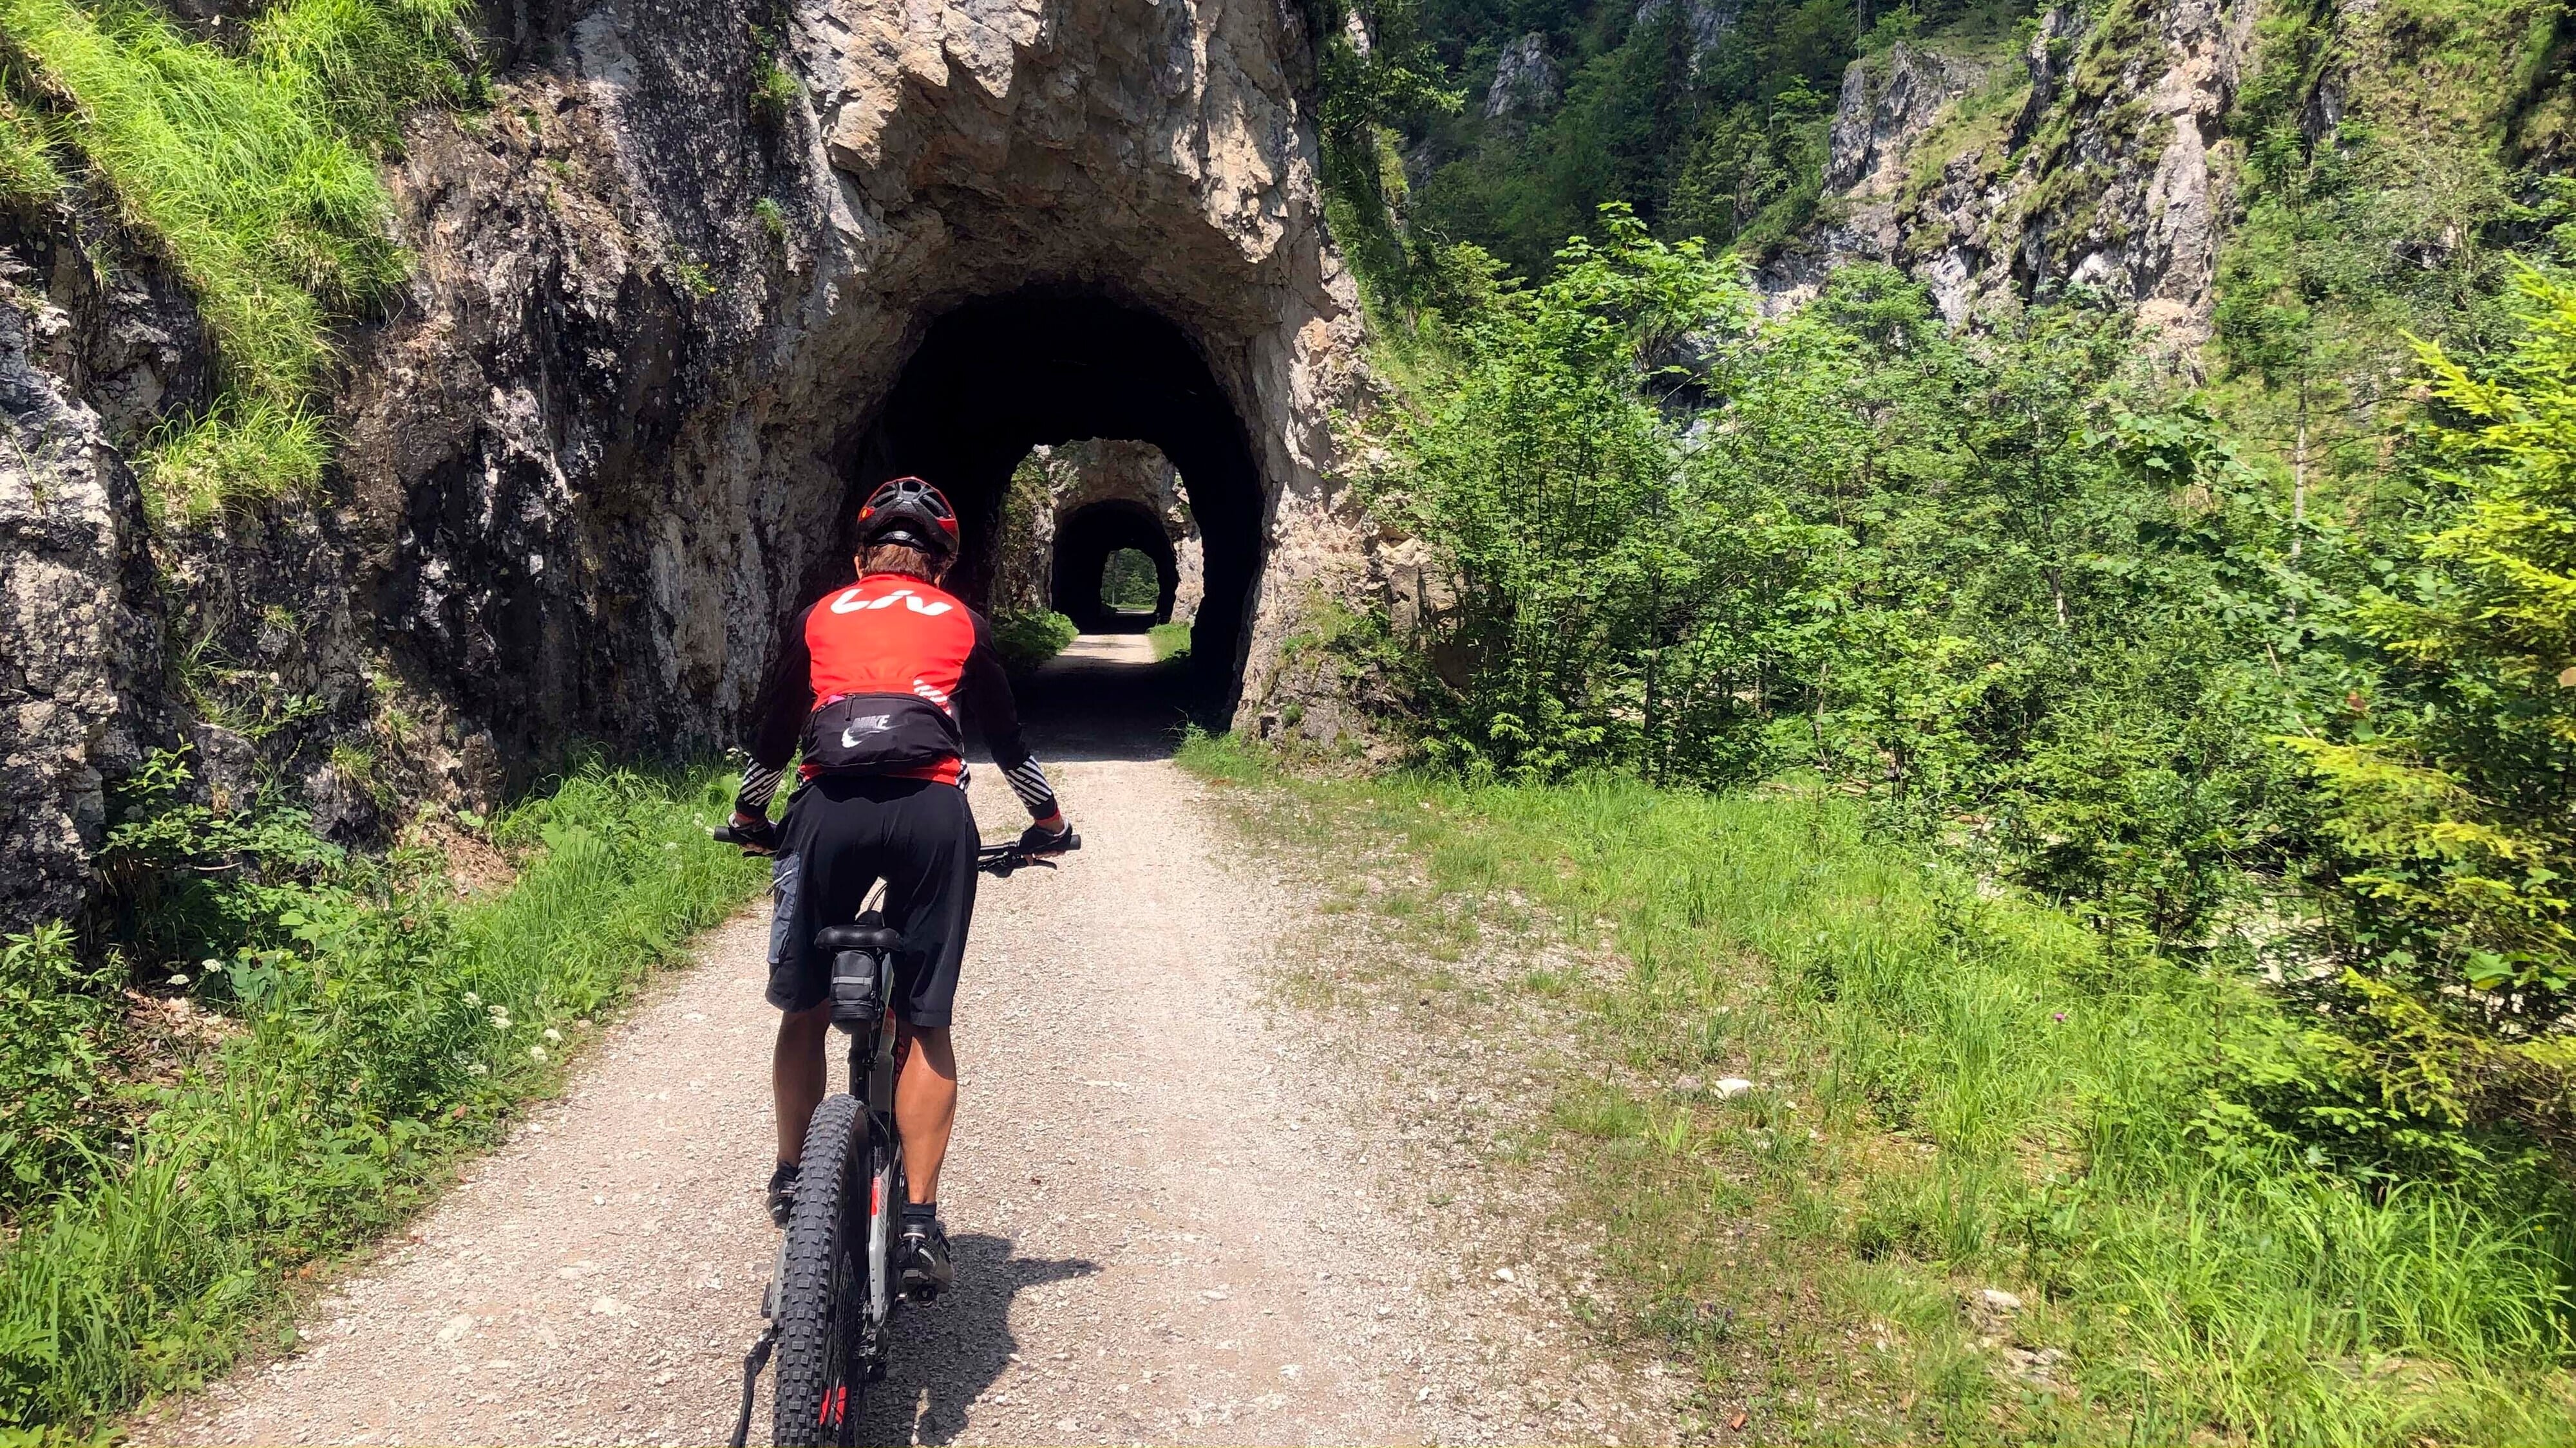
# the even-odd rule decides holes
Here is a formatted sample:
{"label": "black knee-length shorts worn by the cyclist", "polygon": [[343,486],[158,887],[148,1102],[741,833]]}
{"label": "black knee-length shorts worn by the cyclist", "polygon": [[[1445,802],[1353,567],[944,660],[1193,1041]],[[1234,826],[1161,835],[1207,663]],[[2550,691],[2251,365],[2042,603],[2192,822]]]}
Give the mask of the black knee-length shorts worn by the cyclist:
{"label": "black knee-length shorts worn by the cyclist", "polygon": [[855,920],[884,879],[886,925],[904,935],[894,1015],[948,1025],[981,845],[966,791],[920,778],[814,778],[796,791],[778,835],[770,1005],[811,1010],[832,995],[832,956],[814,948],[814,935]]}

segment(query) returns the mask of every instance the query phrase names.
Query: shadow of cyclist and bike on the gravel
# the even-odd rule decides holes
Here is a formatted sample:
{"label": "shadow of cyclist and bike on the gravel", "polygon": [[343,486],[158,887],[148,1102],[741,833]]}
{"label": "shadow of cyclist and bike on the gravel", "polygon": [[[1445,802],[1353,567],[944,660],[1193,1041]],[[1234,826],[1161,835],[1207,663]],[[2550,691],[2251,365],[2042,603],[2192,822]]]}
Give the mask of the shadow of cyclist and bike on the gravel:
{"label": "shadow of cyclist and bike on the gravel", "polygon": [[894,1314],[894,1360],[886,1381],[868,1389],[860,1443],[956,1443],[966,1433],[966,1404],[984,1396],[1020,1350],[1010,1301],[1100,1270],[1084,1257],[1018,1257],[1007,1239],[981,1232],[951,1237],[948,1250],[958,1286],[930,1306]]}

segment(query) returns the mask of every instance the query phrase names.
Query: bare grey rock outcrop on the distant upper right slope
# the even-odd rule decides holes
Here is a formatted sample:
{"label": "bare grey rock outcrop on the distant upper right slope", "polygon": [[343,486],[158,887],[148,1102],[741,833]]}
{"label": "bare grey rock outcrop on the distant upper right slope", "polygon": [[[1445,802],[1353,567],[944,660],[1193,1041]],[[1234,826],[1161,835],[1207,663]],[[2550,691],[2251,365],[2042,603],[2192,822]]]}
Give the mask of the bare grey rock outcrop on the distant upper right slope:
{"label": "bare grey rock outcrop on the distant upper right slope", "polygon": [[[1914,46],[1855,62],[1824,178],[1834,219],[1759,271],[1767,309],[1814,296],[1844,260],[1886,260],[1950,322],[2084,283],[2136,307],[2174,356],[2208,340],[2254,3],[2151,0],[2138,21],[2105,33],[2048,10],[2017,77]],[[2017,103],[2002,95],[2014,80]],[[1945,126],[1971,98],[1981,113]]]}

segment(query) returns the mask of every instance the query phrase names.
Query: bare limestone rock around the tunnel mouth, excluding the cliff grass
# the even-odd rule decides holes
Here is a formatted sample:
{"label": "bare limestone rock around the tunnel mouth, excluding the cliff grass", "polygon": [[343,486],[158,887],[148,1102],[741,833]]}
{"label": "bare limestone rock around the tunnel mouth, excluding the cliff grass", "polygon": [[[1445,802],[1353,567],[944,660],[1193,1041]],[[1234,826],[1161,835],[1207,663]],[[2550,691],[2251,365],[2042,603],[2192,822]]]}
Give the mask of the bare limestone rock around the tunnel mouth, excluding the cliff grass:
{"label": "bare limestone rock around the tunnel mouth, excluding the cliff grass", "polygon": [[[116,441],[204,399],[193,317],[147,283],[85,304],[121,332],[13,314],[0,930],[77,907],[129,716],[198,742],[137,639],[165,603],[304,701],[196,757],[363,835],[371,799],[479,804],[577,739],[734,745],[781,624],[850,567],[858,490],[938,474],[981,600],[1012,464],[1074,438],[1182,464],[1193,657],[1218,709],[1278,709],[1278,642],[1370,572],[1332,482],[1360,314],[1296,5],[590,0],[495,26],[541,59],[404,139],[415,273],[345,338],[325,497],[147,520]],[[72,289],[70,224],[39,232],[0,255]],[[358,755],[363,781],[332,765]]]}

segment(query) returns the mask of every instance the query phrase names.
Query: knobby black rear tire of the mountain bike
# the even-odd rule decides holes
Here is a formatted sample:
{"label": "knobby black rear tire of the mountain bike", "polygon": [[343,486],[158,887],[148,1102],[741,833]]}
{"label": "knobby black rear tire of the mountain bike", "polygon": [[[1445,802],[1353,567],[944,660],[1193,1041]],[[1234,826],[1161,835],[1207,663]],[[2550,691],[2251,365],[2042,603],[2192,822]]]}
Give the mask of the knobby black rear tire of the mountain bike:
{"label": "knobby black rear tire of the mountain bike", "polygon": [[860,1319],[868,1299],[868,1129],[858,1098],[827,1095],[806,1126],[788,1211],[786,1273],[778,1291],[778,1389],[770,1443],[824,1448],[858,1443],[863,1366]]}

